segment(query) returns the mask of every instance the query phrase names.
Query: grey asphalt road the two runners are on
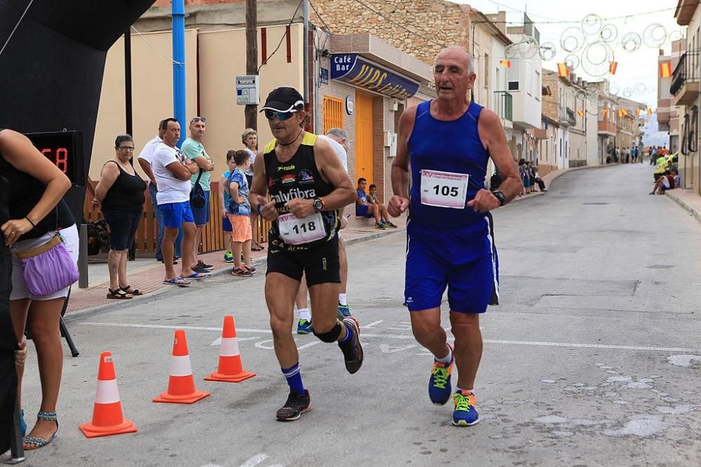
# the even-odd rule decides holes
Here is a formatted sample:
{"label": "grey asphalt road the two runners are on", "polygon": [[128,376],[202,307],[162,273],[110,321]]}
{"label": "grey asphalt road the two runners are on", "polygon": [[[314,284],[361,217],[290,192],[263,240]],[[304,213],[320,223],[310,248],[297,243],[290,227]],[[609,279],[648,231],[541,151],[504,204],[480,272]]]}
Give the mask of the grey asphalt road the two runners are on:
{"label": "grey asphalt road the two runners are on", "polygon": [[[701,225],[663,196],[652,169],[569,172],[544,196],[494,213],[501,305],[482,317],[477,378],[482,421],[451,425],[426,384],[431,357],[402,307],[404,234],[351,246],[348,297],[365,364],[299,336],[314,410],[275,421],[287,385],[272,350],[263,271],[69,316],[52,445],[27,453],[52,466],[698,466],[701,465]],[[445,304],[447,306],[447,304]],[[236,317],[247,370],[205,382],[222,317]],[[447,314],[445,326],[448,326]],[[156,404],[168,383],[173,328],[187,332],[193,405]],[[98,356],[114,354],[125,416],[138,433],[88,440]],[[36,358],[25,412],[38,409]],[[30,428],[32,422],[29,420]]]}

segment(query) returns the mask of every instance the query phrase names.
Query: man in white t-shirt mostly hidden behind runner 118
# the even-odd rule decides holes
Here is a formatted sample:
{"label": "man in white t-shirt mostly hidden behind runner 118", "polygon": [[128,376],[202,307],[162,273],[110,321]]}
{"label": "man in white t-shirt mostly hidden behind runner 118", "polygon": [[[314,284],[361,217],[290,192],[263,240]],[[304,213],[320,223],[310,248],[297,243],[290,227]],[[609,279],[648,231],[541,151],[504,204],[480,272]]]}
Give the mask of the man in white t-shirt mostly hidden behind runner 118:
{"label": "man in white t-shirt mostly hidden behind runner 118", "polygon": [[[341,159],[341,164],[343,169],[346,169],[346,174],[348,173],[348,132],[343,130],[343,128],[332,128],[327,131],[326,134],[318,135],[319,138],[328,141],[336,155]],[[348,218],[343,213],[343,208],[339,209],[339,219],[341,221],[341,229],[346,228],[348,225]],[[343,244],[343,237],[339,235],[339,263],[341,272],[341,286],[339,287],[339,319],[343,321],[343,318],[351,316],[351,307],[348,306],[348,300],[346,299],[346,286],[348,285],[348,258],[346,257],[346,246]],[[299,291],[297,292],[297,299],[294,300],[295,305],[297,305],[297,310],[299,311],[299,321],[297,321],[297,333],[298,334],[308,334],[313,330],[311,312],[307,308],[307,287],[306,281],[301,281],[299,285]]]}

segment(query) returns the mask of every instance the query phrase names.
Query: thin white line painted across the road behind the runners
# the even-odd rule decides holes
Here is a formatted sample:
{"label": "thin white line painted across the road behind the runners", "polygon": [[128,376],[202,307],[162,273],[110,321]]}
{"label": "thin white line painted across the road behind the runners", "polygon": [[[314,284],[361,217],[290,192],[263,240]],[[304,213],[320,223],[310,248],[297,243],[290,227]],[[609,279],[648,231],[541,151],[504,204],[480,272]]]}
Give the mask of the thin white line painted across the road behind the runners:
{"label": "thin white line painted across the road behind the runners", "polygon": [[[135,324],[135,323],[97,323],[97,322],[86,322],[79,323],[83,326],[114,326],[117,328],[151,328],[151,329],[185,329],[185,330],[212,330],[218,333],[222,332],[222,328],[206,328],[202,326],[163,326],[160,324]],[[360,337],[377,337],[379,339],[397,339],[397,340],[414,340],[413,335],[399,335],[399,334],[373,334],[364,333],[363,329],[367,326],[360,327]],[[241,328],[236,330],[237,333],[257,333],[257,334],[271,334],[273,331],[269,329],[247,329]],[[452,342],[453,339],[449,338]],[[264,340],[261,342],[256,342],[256,347],[260,349],[272,349],[273,347],[261,347],[259,344],[264,344],[266,342],[273,342],[272,339]],[[575,347],[578,349],[612,349],[612,350],[639,350],[639,351],[662,351],[662,352],[686,352],[689,354],[701,354],[701,349],[688,349],[685,347],[646,347],[646,346],[636,346],[636,345],[608,345],[608,344],[582,344],[577,342],[541,342],[541,341],[529,341],[529,340],[494,340],[485,339],[485,344],[505,344],[505,345],[531,345],[536,347]]]}

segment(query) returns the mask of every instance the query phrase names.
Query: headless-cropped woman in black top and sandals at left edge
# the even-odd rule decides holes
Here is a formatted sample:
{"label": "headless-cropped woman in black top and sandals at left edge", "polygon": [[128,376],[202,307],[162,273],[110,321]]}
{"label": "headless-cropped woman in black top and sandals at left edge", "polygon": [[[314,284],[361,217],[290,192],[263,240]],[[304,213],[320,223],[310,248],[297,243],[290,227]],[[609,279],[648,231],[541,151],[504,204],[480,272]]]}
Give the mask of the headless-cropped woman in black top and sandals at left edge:
{"label": "headless-cropped woman in black top and sandals at left edge", "polygon": [[[9,209],[5,214],[9,220],[4,218],[0,226],[6,246],[22,251],[37,243],[46,243],[46,237],[55,230],[62,230],[62,237],[77,239],[75,221],[62,201],[71,182],[18,132],[0,129],[0,176],[10,187]],[[59,318],[67,289],[46,297],[34,297],[27,289],[21,269],[21,263],[13,254],[10,314],[16,342],[24,340],[27,315],[32,314],[29,331],[39,356],[41,412],[24,440],[25,449],[36,449],[53,440],[58,431],[55,410],[63,368]],[[18,379],[22,379],[23,373],[24,365],[19,365]]]}

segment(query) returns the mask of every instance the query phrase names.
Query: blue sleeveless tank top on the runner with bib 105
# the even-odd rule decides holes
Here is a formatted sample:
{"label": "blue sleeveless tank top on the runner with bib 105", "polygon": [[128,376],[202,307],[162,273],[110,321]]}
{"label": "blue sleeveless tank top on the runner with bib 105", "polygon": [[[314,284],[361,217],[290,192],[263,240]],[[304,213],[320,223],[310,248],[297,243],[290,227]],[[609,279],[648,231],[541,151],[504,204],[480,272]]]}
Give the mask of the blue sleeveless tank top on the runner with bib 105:
{"label": "blue sleeveless tank top on the runner with bib 105", "polygon": [[411,190],[409,219],[435,231],[466,228],[484,223],[484,213],[472,207],[455,209],[421,203],[421,170],[440,170],[468,174],[465,203],[484,188],[486,164],[489,159],[477,131],[482,106],[470,102],[468,110],[456,120],[442,121],[431,116],[430,102],[418,104],[414,130],[409,137],[411,160]]}

